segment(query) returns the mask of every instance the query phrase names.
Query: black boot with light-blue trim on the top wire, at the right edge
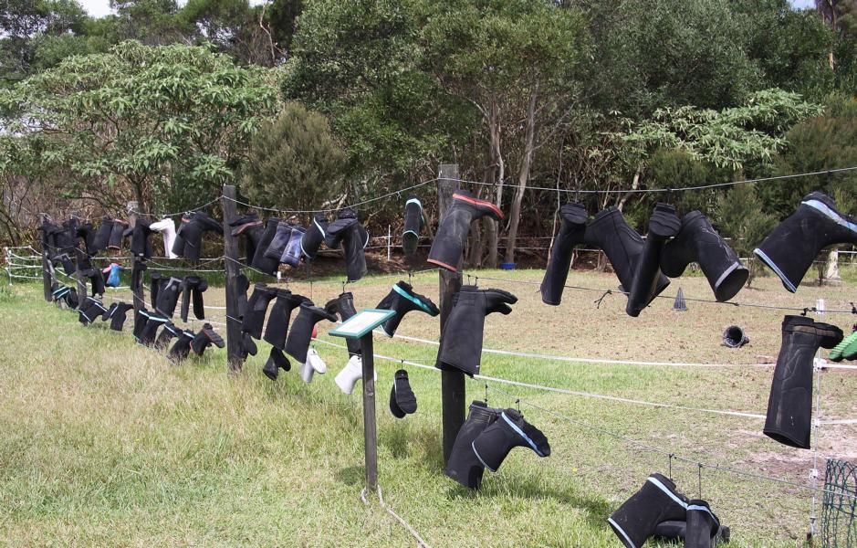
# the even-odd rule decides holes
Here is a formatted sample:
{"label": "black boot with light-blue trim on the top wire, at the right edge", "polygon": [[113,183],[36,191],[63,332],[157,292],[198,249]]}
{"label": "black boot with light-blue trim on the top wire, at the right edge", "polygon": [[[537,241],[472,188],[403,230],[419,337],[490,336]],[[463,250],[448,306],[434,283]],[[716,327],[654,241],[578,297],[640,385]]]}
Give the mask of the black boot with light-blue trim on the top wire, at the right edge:
{"label": "black boot with light-blue trim on the top wire, at the right edge", "polygon": [[754,252],[794,293],[819,251],[834,244],[857,244],[857,219],[836,211],[831,196],[813,192]]}

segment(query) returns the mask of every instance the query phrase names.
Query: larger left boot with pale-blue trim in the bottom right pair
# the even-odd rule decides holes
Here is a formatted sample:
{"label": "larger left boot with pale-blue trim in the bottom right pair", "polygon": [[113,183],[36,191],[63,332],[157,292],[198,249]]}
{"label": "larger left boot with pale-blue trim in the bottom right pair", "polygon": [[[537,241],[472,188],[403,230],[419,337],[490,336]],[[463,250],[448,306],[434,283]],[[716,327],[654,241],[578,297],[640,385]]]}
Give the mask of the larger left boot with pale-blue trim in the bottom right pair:
{"label": "larger left boot with pale-blue trim in the bottom right pair", "polygon": [[658,523],[684,522],[686,515],[685,495],[675,490],[672,480],[652,474],[607,522],[626,548],[640,548],[653,535]]}

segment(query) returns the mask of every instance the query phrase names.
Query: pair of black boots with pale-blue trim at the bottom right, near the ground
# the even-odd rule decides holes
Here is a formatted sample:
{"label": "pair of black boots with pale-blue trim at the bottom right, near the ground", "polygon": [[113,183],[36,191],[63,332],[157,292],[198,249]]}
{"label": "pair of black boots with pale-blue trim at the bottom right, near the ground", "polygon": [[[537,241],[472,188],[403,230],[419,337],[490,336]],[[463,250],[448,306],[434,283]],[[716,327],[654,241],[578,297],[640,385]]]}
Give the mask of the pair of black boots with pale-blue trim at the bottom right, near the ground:
{"label": "pair of black boots with pale-blue trim at the bottom right, near the ground", "polygon": [[676,534],[680,529],[676,522],[685,523],[685,548],[712,548],[718,533],[723,536],[720,521],[706,501],[688,500],[675,490],[671,479],[657,473],[607,522],[626,548],[640,548],[653,536]]}

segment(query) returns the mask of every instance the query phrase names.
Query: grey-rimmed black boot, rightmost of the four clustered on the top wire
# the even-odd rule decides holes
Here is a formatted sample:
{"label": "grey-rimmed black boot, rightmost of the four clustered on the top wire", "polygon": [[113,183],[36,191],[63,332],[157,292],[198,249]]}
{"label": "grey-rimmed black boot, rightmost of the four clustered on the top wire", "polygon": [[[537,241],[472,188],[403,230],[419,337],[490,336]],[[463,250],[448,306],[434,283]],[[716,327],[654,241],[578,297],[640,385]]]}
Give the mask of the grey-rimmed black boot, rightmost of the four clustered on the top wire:
{"label": "grey-rimmed black boot, rightmost of the four clustered on the top wire", "polygon": [[715,299],[721,302],[735,297],[747,282],[747,267],[698,211],[682,218],[678,236],[664,246],[661,270],[670,278],[678,278],[692,262],[699,263]]}

